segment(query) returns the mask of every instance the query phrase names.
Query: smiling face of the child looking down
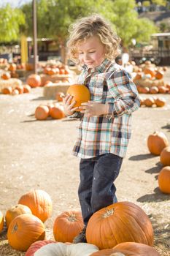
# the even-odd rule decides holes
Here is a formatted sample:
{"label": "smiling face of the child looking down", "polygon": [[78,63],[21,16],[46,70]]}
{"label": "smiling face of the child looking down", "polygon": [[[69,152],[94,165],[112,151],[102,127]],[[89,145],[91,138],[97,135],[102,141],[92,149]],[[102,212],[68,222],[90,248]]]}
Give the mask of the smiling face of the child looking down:
{"label": "smiling face of the child looking down", "polygon": [[104,45],[97,36],[89,37],[77,45],[80,64],[98,67],[104,61]]}

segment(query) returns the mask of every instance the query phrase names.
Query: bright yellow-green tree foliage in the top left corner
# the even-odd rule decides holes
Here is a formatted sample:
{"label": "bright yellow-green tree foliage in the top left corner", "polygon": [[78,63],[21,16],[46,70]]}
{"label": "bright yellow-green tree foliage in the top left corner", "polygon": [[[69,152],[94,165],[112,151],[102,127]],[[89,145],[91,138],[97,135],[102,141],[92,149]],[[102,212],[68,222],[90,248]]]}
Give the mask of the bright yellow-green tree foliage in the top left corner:
{"label": "bright yellow-green tree foliage in the top left corner", "polygon": [[20,26],[25,23],[23,12],[7,4],[0,8],[0,41],[10,42],[20,37]]}

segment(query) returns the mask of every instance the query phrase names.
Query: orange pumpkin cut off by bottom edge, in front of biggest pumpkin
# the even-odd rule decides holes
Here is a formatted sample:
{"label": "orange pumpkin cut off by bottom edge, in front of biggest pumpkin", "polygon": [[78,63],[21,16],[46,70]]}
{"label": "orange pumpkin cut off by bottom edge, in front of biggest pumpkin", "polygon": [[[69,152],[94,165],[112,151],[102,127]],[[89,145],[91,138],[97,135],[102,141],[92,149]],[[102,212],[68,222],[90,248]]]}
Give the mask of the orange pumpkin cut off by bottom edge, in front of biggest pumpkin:
{"label": "orange pumpkin cut off by bottom edge, in front of biggest pumpkin", "polygon": [[120,253],[120,256],[160,256],[151,246],[134,242],[117,244],[117,246],[112,249],[103,249],[101,251],[94,252],[90,256],[119,256],[117,253]]}

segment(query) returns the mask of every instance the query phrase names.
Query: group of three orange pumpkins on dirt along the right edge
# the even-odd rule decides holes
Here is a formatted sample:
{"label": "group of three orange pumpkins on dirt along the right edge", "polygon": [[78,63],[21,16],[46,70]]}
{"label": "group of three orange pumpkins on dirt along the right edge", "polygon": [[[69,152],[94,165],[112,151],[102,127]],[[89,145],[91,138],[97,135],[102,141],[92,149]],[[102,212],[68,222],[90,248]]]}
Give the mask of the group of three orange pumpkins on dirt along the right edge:
{"label": "group of three orange pumpkins on dirt along the right edge", "polygon": [[161,192],[170,194],[170,146],[163,132],[154,132],[147,138],[147,148],[151,154],[160,156],[163,165],[158,175],[158,187]]}

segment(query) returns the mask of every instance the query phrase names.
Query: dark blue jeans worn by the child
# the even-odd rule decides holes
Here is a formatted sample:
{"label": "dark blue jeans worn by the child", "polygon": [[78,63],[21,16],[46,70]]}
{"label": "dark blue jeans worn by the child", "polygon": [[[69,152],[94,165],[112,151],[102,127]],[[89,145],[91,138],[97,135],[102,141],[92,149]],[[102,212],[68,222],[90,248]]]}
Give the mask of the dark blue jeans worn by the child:
{"label": "dark blue jeans worn by the child", "polygon": [[122,162],[122,157],[111,153],[80,160],[78,195],[85,225],[94,212],[117,202],[113,182],[120,172]]}

